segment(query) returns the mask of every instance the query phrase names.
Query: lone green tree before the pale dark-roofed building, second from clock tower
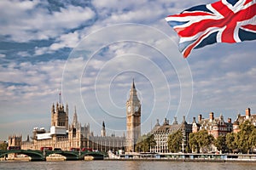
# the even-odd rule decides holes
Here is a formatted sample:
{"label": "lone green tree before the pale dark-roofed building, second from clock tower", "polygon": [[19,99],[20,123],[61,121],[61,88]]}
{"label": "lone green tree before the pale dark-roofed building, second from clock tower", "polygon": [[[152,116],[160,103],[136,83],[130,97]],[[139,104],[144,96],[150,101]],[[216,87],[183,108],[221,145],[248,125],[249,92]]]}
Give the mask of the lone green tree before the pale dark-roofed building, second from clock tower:
{"label": "lone green tree before the pale dark-roofed building, second from clock tower", "polygon": [[176,133],[172,133],[168,137],[168,148],[169,151],[177,153],[182,148],[182,142],[183,142],[183,134],[180,130],[178,130]]}

